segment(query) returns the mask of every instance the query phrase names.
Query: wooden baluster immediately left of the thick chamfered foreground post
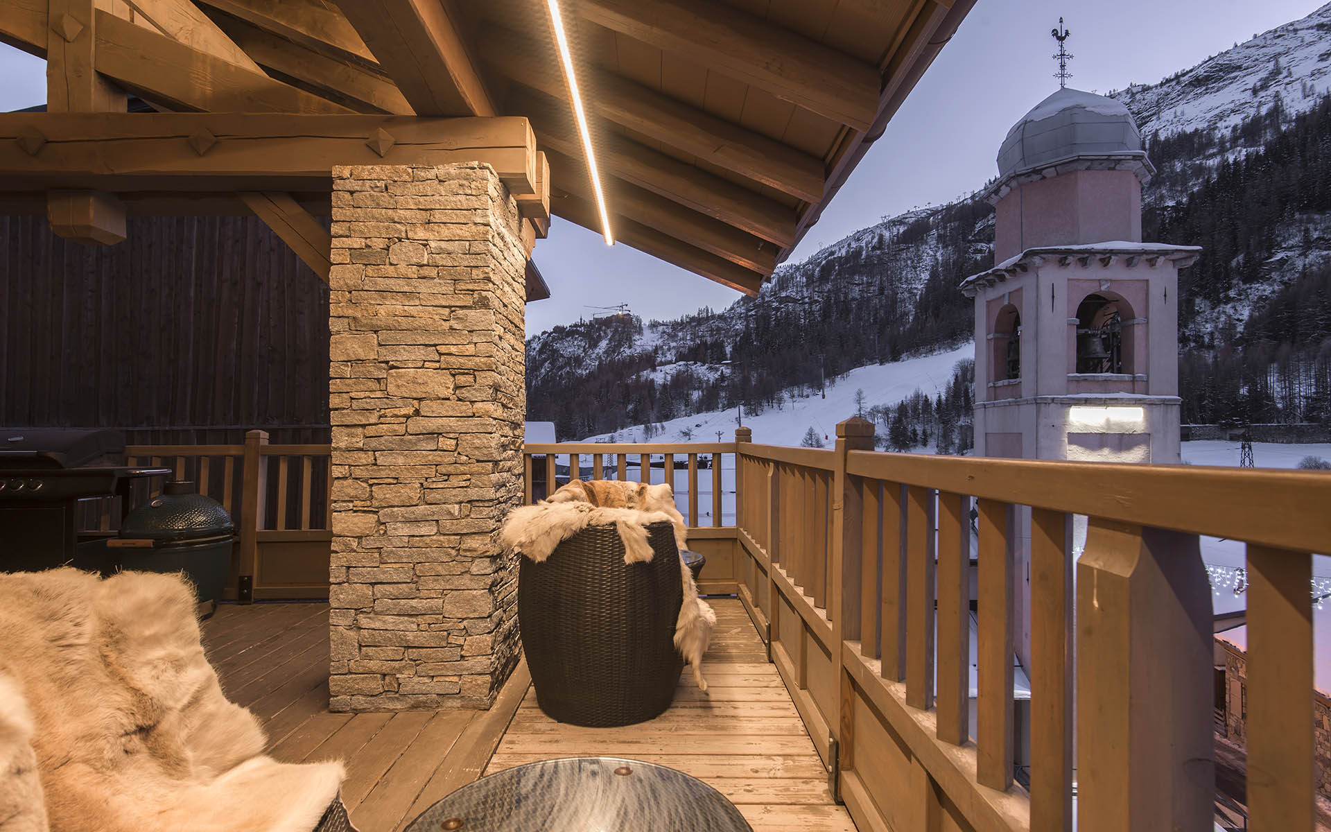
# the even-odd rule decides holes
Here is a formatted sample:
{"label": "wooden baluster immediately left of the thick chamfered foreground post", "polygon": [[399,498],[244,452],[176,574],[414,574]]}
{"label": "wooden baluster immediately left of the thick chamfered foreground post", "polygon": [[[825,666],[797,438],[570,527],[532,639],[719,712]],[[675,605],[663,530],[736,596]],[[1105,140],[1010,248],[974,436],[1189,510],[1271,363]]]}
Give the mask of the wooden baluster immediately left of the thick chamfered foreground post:
{"label": "wooden baluster immediately left of the thick chamfered foreground post", "polygon": [[1073,828],[1073,523],[1030,518],[1030,828]]}

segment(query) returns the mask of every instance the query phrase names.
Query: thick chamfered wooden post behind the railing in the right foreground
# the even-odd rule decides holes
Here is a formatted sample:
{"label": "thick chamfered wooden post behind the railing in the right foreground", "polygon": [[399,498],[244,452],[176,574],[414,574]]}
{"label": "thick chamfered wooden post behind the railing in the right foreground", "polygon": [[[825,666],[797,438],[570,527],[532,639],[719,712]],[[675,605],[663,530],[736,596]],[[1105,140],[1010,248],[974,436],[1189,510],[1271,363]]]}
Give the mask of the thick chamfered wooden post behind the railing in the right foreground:
{"label": "thick chamfered wooden post behind the railing in the right foreground", "polygon": [[1211,643],[1197,536],[1091,518],[1077,563],[1081,832],[1213,828]]}

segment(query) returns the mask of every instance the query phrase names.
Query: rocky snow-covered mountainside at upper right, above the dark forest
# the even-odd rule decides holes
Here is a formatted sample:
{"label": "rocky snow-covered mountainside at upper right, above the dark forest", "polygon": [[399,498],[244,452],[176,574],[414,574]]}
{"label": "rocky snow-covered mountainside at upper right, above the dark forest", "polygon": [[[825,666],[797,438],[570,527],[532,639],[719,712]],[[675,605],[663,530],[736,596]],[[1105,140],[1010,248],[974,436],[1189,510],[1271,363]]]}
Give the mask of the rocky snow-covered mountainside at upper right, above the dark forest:
{"label": "rocky snow-covered mountainside at upper right, above the dark forest", "polygon": [[1142,136],[1229,130],[1279,100],[1299,112],[1331,89],[1331,3],[1158,84],[1110,93]]}

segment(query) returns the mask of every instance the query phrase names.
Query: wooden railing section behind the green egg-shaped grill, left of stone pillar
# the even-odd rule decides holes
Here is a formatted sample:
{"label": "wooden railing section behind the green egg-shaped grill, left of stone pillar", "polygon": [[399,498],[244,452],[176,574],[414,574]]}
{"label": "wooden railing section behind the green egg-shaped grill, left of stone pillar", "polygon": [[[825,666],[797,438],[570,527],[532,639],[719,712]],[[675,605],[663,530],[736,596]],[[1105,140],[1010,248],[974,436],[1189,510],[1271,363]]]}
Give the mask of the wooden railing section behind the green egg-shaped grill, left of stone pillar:
{"label": "wooden railing section behind the green egg-shaped grill, left of stone pillar", "polygon": [[[327,598],[327,445],[269,445],[265,431],[252,430],[244,445],[132,445],[125,457],[130,465],[166,467],[176,479],[193,481],[232,515],[238,539],[229,598]],[[136,483],[129,507],[148,502],[160,487],[157,479]],[[83,502],[85,532],[109,535],[120,527],[120,498]]]}

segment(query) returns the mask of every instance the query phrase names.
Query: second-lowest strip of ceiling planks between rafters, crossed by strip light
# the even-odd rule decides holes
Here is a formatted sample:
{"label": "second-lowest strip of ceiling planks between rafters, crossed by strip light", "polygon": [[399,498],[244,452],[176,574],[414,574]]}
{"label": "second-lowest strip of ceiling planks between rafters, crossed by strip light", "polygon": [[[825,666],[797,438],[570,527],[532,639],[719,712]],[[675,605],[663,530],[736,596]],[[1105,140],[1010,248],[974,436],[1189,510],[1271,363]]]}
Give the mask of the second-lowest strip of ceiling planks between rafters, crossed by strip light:
{"label": "second-lowest strip of ceiling planks between rafters, crossed by strip light", "polygon": [[[531,117],[540,145],[582,157],[582,141],[552,101],[528,95],[512,109]],[[616,140],[608,130],[600,132],[596,144],[600,166],[610,174],[779,246],[791,245],[792,209],[638,142]]]}

